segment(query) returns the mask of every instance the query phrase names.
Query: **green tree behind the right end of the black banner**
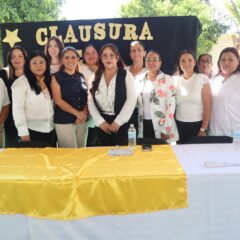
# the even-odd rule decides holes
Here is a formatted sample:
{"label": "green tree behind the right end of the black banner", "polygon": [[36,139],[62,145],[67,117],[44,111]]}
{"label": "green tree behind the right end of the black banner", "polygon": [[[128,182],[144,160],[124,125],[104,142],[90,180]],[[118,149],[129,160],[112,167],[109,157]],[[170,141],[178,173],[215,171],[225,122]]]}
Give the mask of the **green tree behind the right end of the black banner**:
{"label": "green tree behind the right end of the black banner", "polygon": [[204,0],[131,0],[120,9],[122,17],[197,16],[202,25],[198,53],[208,52],[228,28],[213,14],[214,9]]}

